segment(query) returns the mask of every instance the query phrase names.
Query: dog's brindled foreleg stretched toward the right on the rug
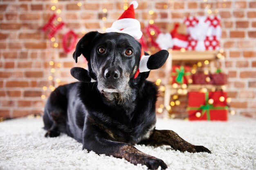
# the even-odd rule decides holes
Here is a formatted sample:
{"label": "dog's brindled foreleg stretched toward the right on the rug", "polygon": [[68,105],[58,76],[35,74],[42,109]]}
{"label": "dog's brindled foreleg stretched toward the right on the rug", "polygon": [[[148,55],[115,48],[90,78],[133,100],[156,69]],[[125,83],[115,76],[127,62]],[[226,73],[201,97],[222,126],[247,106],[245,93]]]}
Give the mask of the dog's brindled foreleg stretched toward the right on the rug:
{"label": "dog's brindled foreleg stretched toward the right on the rug", "polygon": [[188,151],[191,153],[197,152],[207,152],[211,153],[211,151],[204,146],[195,146],[186,142],[182,139],[177,133],[170,130],[154,130],[152,135],[146,139],[141,141],[139,144],[145,145],[153,145],[153,146],[161,146],[161,145],[170,145],[175,150],[180,150],[182,152]]}

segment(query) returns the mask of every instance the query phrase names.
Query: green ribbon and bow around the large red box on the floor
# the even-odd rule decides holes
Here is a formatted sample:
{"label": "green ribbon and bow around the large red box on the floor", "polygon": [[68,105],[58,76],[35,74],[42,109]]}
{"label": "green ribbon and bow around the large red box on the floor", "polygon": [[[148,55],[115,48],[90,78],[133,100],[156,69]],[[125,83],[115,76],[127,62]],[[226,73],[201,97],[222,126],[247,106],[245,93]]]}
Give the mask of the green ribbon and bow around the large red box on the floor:
{"label": "green ribbon and bow around the large red box on the floor", "polygon": [[207,120],[211,120],[211,116],[210,116],[211,109],[214,109],[214,110],[228,109],[227,106],[214,107],[213,104],[209,104],[208,100],[209,100],[209,92],[206,92],[205,93],[205,105],[201,105],[200,107],[189,107],[189,110],[202,110],[201,116],[203,116],[205,113],[207,113],[207,115],[206,115]]}

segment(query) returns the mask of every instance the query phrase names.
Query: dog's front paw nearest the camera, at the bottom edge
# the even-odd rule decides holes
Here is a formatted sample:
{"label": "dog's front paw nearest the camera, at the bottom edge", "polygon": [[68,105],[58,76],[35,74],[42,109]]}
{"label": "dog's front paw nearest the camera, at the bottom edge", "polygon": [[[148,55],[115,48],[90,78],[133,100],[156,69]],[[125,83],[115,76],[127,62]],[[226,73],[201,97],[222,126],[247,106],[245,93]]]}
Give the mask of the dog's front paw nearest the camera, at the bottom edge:
{"label": "dog's front paw nearest the camera, at the bottom edge", "polygon": [[137,164],[146,165],[150,170],[156,170],[161,167],[161,169],[165,170],[167,165],[164,163],[162,159],[158,159],[156,157],[142,157],[138,160]]}

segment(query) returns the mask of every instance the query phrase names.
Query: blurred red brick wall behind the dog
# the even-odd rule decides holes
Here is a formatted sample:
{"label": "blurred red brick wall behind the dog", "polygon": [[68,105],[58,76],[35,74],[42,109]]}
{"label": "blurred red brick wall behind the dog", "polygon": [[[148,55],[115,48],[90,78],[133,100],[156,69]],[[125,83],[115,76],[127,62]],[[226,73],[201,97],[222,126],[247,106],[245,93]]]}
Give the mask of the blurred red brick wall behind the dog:
{"label": "blurred red brick wall behind the dog", "polygon": [[[231,107],[237,113],[256,117],[256,2],[254,0],[216,0],[212,10],[218,8],[222,17],[222,47],[226,60],[222,68],[229,74],[227,91],[232,98]],[[79,37],[88,31],[104,32],[124,11],[124,2],[115,0],[1,0],[0,1],[0,117],[16,118],[40,113],[49,95],[49,85],[75,81],[70,76],[73,66],[85,66],[82,58],[75,64],[72,52],[66,54],[61,47],[63,34],[70,29]],[[162,31],[166,24],[182,22],[187,15],[204,15],[203,0],[139,0],[136,17],[144,27],[150,19]],[[56,13],[52,5],[61,9],[58,14],[65,27],[55,38],[58,47],[52,47],[42,26]],[[102,9],[106,8],[107,13]],[[166,9],[167,8],[167,9]],[[149,15],[148,11],[155,13]],[[106,21],[102,17],[106,17]],[[54,61],[54,65],[49,65]],[[56,72],[51,73],[51,68]],[[53,81],[48,77],[53,76]],[[164,79],[164,69],[151,72],[150,79]],[[56,78],[61,80],[56,83]],[[43,91],[42,87],[47,90]],[[160,98],[160,101],[162,99]]]}

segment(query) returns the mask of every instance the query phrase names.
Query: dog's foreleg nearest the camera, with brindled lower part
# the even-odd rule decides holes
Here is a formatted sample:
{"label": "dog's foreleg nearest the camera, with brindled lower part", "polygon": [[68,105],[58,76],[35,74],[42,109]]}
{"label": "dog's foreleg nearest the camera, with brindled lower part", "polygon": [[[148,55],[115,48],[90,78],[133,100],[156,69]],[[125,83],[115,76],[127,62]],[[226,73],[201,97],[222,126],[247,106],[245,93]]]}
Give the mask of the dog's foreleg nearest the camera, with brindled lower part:
{"label": "dog's foreleg nearest the camera, with brindled lower part", "polygon": [[161,166],[166,169],[167,166],[161,159],[143,153],[134,146],[124,143],[115,142],[106,139],[104,133],[99,131],[97,127],[88,125],[83,129],[83,149],[94,151],[97,154],[112,155],[117,158],[124,158],[135,165],[146,165],[149,169],[157,169]]}

